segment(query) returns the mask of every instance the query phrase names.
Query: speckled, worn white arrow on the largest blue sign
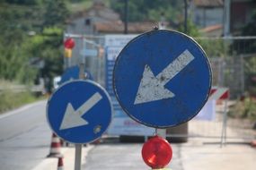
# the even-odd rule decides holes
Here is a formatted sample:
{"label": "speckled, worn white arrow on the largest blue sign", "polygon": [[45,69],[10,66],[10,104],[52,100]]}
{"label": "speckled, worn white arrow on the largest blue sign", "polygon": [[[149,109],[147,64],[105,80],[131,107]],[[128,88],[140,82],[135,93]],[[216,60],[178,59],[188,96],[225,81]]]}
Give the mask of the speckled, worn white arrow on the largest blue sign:
{"label": "speckled, worn white arrow on the largest blue sign", "polygon": [[154,76],[154,73],[146,64],[142,80],[140,81],[139,87],[137,89],[134,105],[160,100],[163,98],[173,98],[175,95],[171,90],[165,89],[164,85],[171,81],[175,75],[177,75],[183,68],[190,64],[194,58],[195,57],[190,53],[190,51],[186,49],[156,76]]}

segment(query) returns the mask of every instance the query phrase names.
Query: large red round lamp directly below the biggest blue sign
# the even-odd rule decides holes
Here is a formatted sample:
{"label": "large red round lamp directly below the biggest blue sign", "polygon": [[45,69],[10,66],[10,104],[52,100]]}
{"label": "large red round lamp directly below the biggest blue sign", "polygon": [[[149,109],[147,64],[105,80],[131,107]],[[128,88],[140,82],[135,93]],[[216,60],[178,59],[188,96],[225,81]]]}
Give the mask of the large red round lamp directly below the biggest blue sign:
{"label": "large red round lamp directly below the biggest blue sign", "polygon": [[167,140],[154,136],[143,145],[141,154],[147,166],[163,168],[172,159],[172,148]]}

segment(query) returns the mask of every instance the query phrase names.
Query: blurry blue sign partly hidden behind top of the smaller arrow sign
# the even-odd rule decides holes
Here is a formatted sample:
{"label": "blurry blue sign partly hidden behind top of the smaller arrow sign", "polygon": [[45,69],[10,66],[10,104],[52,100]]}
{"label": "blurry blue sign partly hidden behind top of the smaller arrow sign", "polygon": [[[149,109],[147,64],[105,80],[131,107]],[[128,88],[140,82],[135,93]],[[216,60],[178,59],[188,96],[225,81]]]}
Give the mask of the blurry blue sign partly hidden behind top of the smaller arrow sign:
{"label": "blurry blue sign partly hidden behind top of the smaller arrow sign", "polygon": [[[86,79],[93,80],[93,77],[90,72],[84,70],[84,75]],[[62,84],[66,81],[78,80],[79,79],[79,67],[77,65],[69,67],[62,74],[59,84]]]}

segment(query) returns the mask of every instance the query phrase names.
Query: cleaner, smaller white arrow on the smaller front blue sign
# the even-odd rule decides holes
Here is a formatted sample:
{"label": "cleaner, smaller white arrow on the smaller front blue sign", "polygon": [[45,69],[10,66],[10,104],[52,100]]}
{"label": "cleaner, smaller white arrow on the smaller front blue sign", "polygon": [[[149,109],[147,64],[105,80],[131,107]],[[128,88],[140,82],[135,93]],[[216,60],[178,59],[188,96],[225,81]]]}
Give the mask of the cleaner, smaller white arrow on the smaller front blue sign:
{"label": "cleaner, smaller white arrow on the smaller front blue sign", "polygon": [[88,124],[88,122],[84,120],[82,116],[86,114],[86,112],[88,112],[93,106],[95,106],[101,99],[102,95],[99,92],[96,92],[76,110],[71,103],[68,103],[59,130],[65,130]]}

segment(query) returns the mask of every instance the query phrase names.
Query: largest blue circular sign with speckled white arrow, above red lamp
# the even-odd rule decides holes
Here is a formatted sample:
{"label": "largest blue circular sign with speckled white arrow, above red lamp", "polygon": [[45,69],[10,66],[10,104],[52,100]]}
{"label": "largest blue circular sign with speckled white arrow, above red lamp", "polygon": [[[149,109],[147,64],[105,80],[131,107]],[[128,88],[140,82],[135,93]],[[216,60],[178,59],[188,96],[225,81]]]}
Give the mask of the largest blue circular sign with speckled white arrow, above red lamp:
{"label": "largest blue circular sign with speckled white arrow, above red lamp", "polygon": [[177,31],[152,30],[122,49],[113,87],[131,118],[166,128],[199,113],[207,102],[211,80],[207,55],[196,41]]}

